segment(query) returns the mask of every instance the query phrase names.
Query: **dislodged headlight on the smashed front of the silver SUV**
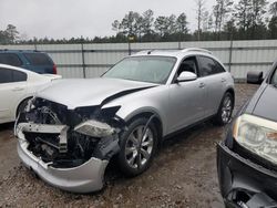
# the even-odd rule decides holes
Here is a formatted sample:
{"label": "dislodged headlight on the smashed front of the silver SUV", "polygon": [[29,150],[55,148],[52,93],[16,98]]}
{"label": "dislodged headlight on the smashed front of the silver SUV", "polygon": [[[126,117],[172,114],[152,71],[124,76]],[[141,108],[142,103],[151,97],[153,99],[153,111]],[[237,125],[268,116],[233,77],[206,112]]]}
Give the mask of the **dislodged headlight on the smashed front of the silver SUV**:
{"label": "dislodged headlight on the smashed front of the silver SUV", "polygon": [[115,133],[115,129],[109,124],[89,119],[74,127],[74,131],[92,137],[106,137]]}

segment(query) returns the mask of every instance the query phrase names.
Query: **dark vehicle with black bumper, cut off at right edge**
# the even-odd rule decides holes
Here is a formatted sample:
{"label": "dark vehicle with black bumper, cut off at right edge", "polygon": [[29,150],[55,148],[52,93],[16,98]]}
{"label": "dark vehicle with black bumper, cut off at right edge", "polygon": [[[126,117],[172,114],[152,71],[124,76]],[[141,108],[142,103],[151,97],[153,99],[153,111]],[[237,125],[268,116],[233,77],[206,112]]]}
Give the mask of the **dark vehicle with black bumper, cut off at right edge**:
{"label": "dark vehicle with black bumper, cut off at right edge", "polygon": [[227,207],[277,207],[277,62],[247,82],[263,84],[217,145],[220,191]]}

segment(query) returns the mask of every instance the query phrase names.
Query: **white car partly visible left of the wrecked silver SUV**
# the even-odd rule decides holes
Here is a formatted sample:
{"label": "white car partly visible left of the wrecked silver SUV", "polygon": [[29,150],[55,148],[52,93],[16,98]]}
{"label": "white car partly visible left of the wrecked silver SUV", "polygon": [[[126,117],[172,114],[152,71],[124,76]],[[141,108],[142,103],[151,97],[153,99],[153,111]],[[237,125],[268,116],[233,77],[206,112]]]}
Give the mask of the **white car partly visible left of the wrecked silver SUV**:
{"label": "white car partly visible left of the wrecked silver SUV", "polygon": [[16,121],[28,100],[57,79],[61,76],[0,64],[0,124]]}

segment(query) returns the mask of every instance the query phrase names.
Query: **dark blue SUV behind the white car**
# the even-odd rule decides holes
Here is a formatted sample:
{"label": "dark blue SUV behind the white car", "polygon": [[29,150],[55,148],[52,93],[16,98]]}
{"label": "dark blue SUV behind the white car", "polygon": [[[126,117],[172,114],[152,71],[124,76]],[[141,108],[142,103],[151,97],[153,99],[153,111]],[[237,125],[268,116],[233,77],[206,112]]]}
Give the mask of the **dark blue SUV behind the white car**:
{"label": "dark blue SUV behind the white car", "polygon": [[40,51],[0,50],[0,63],[23,67],[39,74],[57,74],[57,66],[52,59]]}

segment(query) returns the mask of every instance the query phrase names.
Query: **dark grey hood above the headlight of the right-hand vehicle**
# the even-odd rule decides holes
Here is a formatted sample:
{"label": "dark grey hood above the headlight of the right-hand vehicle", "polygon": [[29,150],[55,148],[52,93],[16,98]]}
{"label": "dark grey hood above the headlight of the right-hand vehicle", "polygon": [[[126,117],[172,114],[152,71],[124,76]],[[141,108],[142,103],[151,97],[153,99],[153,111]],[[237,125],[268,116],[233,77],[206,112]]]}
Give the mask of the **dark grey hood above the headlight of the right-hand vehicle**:
{"label": "dark grey hood above the headlight of the right-hand vehicle", "polygon": [[277,122],[277,89],[267,85],[253,110],[253,114]]}

